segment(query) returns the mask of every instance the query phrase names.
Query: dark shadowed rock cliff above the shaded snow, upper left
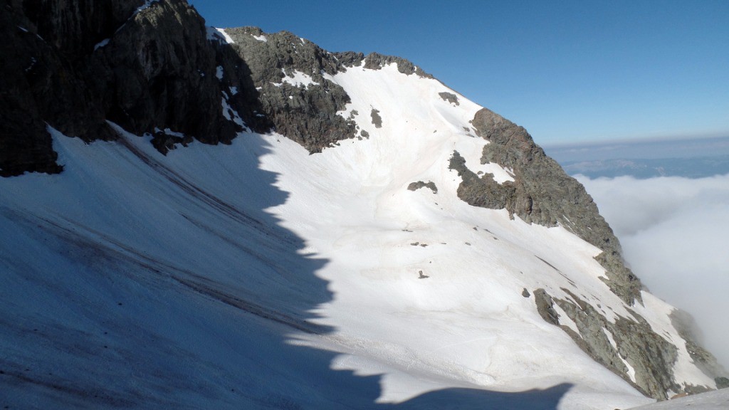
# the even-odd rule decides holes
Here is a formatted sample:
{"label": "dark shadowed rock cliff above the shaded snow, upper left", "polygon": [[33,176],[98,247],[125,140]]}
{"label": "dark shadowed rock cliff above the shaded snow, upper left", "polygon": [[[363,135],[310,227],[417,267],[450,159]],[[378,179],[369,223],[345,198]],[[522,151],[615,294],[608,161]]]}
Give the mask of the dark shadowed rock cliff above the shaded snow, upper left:
{"label": "dark shadowed rock cliff above the shaded snow, upper left", "polygon": [[0,175],[61,171],[46,124],[92,141],[110,120],[163,152],[270,129],[245,62],[184,0],[15,0],[0,18]]}

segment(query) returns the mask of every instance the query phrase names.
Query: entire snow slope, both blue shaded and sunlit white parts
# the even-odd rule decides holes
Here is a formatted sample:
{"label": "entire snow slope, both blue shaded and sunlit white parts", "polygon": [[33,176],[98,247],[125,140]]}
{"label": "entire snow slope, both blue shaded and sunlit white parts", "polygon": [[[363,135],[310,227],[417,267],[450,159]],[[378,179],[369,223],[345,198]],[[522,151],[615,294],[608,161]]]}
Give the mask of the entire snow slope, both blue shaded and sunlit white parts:
{"label": "entire snow slope, both blue shaded and sunlit white parts", "polygon": [[[0,405],[625,409],[651,400],[537,313],[561,287],[628,315],[595,247],[468,206],[480,109],[394,64],[327,77],[369,139],[276,134],[165,157],[50,129],[60,175],[0,179]],[[296,77],[295,77],[296,79]],[[370,112],[379,111],[381,127]],[[170,130],[174,132],[174,130]],[[411,191],[411,182],[434,182]],[[636,306],[679,341],[671,307]],[[556,308],[557,306],[555,306]],[[650,309],[650,310],[649,310]],[[566,314],[562,314],[566,318]],[[574,326],[574,323],[565,323]],[[680,346],[679,346],[680,347]],[[679,375],[706,384],[679,352]]]}

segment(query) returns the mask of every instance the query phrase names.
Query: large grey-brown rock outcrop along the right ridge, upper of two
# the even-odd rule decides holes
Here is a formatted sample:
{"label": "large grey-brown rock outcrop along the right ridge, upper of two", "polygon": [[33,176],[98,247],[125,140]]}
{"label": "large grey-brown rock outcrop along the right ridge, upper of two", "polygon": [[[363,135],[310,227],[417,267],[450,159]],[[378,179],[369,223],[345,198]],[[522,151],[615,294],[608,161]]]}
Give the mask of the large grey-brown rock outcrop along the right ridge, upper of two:
{"label": "large grey-brown rock outcrop along the right ridge, upper of two", "polygon": [[596,259],[606,269],[604,281],[613,293],[628,305],[640,301],[639,279],[625,267],[617,238],[580,182],[547,157],[524,128],[491,110],[477,112],[472,125],[489,142],[483,147],[481,163],[510,169],[515,180],[499,184],[491,174],[479,177],[456,152],[451,169],[462,178],[459,198],[473,206],[507,209],[527,223],[564,226],[603,251]]}

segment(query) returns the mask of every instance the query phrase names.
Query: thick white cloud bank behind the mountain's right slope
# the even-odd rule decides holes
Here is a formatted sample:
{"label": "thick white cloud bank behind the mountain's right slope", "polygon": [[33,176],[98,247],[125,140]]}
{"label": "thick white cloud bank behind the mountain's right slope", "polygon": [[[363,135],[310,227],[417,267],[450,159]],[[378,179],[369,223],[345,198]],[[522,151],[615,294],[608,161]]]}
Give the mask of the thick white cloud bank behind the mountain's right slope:
{"label": "thick white cloud bank behind the mountain's right slope", "polygon": [[729,175],[577,177],[652,293],[693,315],[729,368]]}

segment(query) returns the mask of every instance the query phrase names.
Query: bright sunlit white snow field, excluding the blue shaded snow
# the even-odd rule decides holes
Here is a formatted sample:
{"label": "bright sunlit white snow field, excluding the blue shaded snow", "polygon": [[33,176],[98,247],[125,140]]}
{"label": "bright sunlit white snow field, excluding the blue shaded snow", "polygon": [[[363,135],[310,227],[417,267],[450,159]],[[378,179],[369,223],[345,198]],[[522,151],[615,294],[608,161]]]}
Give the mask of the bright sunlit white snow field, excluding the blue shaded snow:
{"label": "bright sunlit white snow field, excluding the blue shaded snow", "polygon": [[[470,169],[493,172],[499,182],[513,180],[496,164],[480,164],[486,142],[468,129],[480,107],[462,96],[458,107],[448,104],[437,93],[450,89],[400,74],[394,64],[381,70],[353,67],[327,79],[352,98],[341,115],[356,111],[357,124],[370,138],[345,141],[298,161],[303,148],[283,139],[274,143],[268,136],[274,148],[262,166],[280,174],[277,186],[292,193],[286,204],[270,211],[330,260],[318,274],[335,296],[316,309],[319,321],[335,327],[346,347],[349,340],[367,340],[364,352],[340,349],[338,363],[362,371],[362,366],[372,367],[363,364],[366,355],[388,367],[399,363],[400,371],[436,374],[451,385],[518,389],[533,387],[520,382],[525,374],[531,382],[561,374],[561,381],[581,385],[575,390],[595,384],[623,394],[630,390],[594,365],[562,330],[547,325],[533,298],[521,295],[523,288],[545,287],[569,298],[558,287],[579,294],[576,286],[589,293],[582,295],[587,301],[619,304],[598,279],[604,271],[592,258],[599,251],[563,228],[527,225],[504,211],[476,209],[457,198],[460,179],[448,169],[453,150],[464,155]],[[372,109],[381,115],[381,128],[370,120]],[[300,175],[316,177],[302,180]],[[435,182],[438,193],[406,189],[418,180]],[[585,272],[591,274],[584,278]],[[421,273],[428,277],[418,279]],[[574,328],[566,315],[563,320]],[[545,333],[549,343],[536,348]],[[383,387],[387,393],[381,401],[407,400],[424,388]]]}

